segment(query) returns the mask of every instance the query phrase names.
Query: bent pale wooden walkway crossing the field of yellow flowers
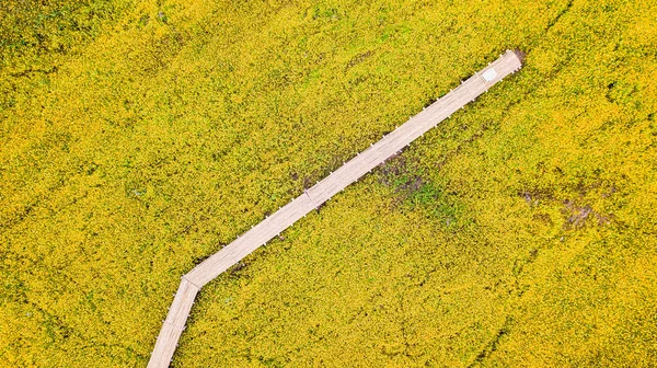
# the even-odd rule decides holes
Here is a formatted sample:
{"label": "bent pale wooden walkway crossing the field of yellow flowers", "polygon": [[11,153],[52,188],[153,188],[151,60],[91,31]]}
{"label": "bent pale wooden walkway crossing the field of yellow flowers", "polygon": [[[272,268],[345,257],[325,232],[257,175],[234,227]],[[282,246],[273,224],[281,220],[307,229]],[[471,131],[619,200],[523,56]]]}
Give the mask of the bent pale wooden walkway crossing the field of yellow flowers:
{"label": "bent pale wooden walkway crossing the field of yellow flowers", "polygon": [[419,114],[413,116],[408,122],[384,136],[383,139],[358,153],[301,196],[184,275],[155,342],[148,367],[169,367],[178,338],[185,329],[187,315],[192,304],[194,304],[194,298],[204,285],[328,200],[347,185],[408,146],[413,140],[448,118],[456,111],[486,92],[504,77],[520,69],[521,66],[521,57],[517,53],[506,51],[499,59],[475,73]]}

